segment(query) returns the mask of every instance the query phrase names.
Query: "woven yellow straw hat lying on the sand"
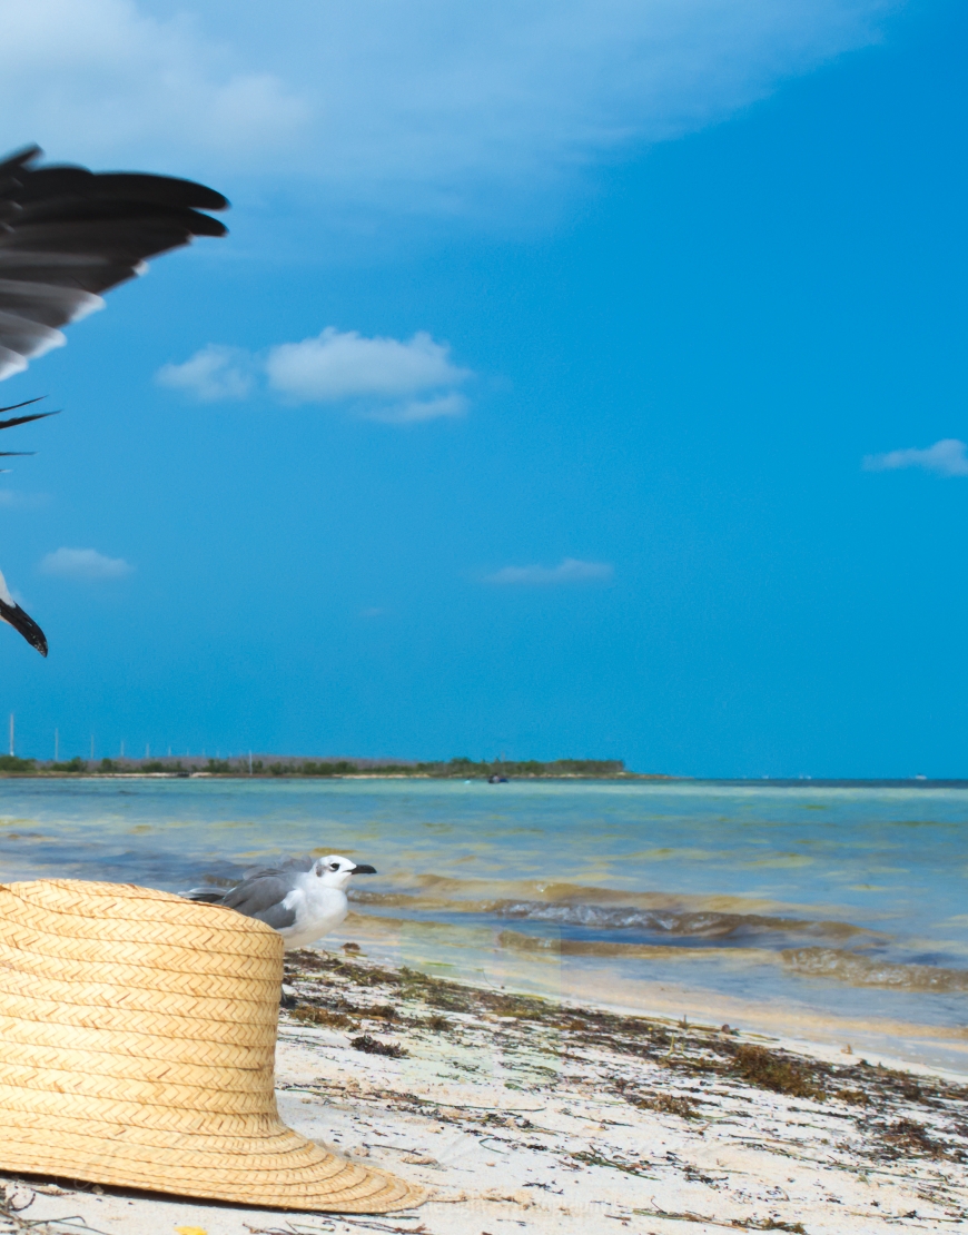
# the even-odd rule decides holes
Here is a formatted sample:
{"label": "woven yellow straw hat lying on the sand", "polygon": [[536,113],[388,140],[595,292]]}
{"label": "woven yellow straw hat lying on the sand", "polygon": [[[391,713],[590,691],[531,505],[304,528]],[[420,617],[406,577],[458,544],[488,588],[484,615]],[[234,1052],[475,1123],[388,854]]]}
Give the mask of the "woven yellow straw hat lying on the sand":
{"label": "woven yellow straw hat lying on the sand", "polygon": [[283,940],[131,884],[0,884],[0,1168],[280,1209],[422,1198],[279,1120]]}

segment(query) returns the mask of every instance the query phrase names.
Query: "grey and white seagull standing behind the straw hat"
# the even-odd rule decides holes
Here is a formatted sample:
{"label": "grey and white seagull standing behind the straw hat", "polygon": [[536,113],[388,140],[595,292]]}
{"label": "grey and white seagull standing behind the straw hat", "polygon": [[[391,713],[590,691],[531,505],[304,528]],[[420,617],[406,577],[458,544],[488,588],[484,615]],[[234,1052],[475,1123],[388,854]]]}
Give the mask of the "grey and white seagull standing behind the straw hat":
{"label": "grey and white seagull standing behind the straw hat", "polygon": [[189,900],[225,905],[246,918],[258,918],[285,940],[286,952],[305,947],[328,934],[346,918],[346,887],[354,874],[375,874],[372,866],[330,853],[321,858],[291,858],[278,867],[246,872],[228,892],[195,888]]}

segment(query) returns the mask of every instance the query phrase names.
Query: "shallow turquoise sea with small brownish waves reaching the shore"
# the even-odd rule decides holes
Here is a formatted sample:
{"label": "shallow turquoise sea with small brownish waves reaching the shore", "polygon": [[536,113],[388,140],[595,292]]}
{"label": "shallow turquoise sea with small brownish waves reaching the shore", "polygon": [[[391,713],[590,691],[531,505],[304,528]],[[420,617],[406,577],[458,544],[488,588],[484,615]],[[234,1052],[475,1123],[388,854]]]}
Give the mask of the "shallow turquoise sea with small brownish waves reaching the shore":
{"label": "shallow turquoise sea with small brownish waves reaching the shore", "polygon": [[180,892],[372,862],[326,941],[496,987],[968,1072],[968,790],[0,781],[0,878]]}

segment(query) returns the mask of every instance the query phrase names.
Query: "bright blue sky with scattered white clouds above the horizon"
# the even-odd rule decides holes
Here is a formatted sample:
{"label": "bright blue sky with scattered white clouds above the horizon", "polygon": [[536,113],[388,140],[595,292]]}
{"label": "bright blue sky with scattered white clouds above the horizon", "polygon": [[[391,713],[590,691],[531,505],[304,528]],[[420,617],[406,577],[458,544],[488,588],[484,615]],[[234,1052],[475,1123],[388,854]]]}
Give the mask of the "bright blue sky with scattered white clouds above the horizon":
{"label": "bright blue sky with scattered white clouds above the horizon", "polygon": [[968,774],[959,6],[0,9],[233,203],[4,385],[21,753]]}

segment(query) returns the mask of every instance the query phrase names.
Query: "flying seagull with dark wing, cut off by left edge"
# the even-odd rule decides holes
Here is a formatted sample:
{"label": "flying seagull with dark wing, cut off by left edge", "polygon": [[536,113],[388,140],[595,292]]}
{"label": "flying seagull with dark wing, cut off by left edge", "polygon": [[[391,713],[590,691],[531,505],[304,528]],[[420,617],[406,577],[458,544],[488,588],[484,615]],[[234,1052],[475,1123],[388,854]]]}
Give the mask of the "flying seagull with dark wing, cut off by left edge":
{"label": "flying seagull with dark wing, cut off by left edge", "polygon": [[[38,146],[0,159],[0,382],[65,342],[60,326],[104,308],[109,291],[147,269],[146,258],[225,236],[202,210],[225,210],[221,193],[191,180],[140,172],[38,167]],[[38,399],[0,408],[0,414]],[[0,430],[56,416],[33,411]],[[0,456],[25,451],[0,451]],[[0,620],[47,656],[43,631],[10,595],[0,574]]]}

